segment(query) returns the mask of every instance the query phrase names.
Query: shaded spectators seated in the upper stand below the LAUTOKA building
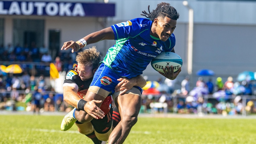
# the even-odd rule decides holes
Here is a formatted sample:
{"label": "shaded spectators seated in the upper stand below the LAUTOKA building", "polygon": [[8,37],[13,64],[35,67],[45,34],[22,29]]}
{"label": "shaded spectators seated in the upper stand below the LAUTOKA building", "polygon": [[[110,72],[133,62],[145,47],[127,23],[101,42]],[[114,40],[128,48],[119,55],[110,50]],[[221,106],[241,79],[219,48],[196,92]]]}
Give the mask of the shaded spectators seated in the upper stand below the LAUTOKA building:
{"label": "shaded spectators seated in the upper stand below the LAUTOKA building", "polygon": [[[32,42],[30,45],[20,46],[19,44],[12,46],[0,45],[0,61],[8,62],[41,62],[46,65],[36,65],[36,76],[44,74],[49,75],[48,63],[54,62],[58,71],[69,70],[76,63],[75,56],[77,53],[63,53],[61,51],[54,52],[49,50],[45,45],[37,46],[36,43]],[[31,65],[22,64],[24,71],[31,72]]]}

